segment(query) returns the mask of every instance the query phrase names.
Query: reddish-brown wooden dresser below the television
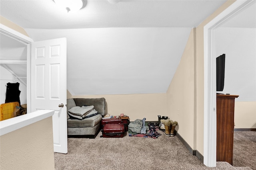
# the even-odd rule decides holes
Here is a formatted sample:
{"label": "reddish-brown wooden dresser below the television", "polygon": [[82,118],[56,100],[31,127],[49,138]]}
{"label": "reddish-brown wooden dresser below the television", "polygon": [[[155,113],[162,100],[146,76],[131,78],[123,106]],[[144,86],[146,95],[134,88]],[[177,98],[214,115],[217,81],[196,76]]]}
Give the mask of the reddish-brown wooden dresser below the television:
{"label": "reddish-brown wooden dresser below the television", "polygon": [[234,106],[237,95],[217,94],[216,160],[233,164]]}

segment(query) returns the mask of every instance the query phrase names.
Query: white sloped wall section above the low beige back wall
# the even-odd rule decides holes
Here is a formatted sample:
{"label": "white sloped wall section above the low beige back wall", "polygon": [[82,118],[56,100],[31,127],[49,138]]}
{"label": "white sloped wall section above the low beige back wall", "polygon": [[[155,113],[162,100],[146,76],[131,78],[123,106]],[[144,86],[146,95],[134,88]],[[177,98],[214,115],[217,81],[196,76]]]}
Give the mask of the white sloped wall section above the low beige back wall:
{"label": "white sloped wall section above the low beige back wall", "polygon": [[34,41],[67,38],[67,89],[72,95],[112,95],[165,93],[190,29],[118,27],[26,31]]}

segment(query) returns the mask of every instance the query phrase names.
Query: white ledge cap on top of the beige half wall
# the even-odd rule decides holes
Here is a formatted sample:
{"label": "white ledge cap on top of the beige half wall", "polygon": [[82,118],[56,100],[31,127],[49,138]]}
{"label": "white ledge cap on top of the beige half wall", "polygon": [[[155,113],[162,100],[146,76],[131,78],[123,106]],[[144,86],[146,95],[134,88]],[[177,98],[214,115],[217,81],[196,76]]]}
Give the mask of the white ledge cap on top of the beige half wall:
{"label": "white ledge cap on top of the beige half wall", "polygon": [[30,114],[0,121],[0,136],[52,116],[53,110],[39,110]]}

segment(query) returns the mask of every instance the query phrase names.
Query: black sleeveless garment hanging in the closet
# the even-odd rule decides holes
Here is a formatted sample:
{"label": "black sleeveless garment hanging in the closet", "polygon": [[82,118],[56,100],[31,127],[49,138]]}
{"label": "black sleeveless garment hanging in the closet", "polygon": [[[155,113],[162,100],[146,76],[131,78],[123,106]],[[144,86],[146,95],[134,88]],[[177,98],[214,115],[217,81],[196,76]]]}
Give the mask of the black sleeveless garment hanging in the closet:
{"label": "black sleeveless garment hanging in the closet", "polygon": [[20,83],[7,83],[5,103],[19,102],[20,104]]}

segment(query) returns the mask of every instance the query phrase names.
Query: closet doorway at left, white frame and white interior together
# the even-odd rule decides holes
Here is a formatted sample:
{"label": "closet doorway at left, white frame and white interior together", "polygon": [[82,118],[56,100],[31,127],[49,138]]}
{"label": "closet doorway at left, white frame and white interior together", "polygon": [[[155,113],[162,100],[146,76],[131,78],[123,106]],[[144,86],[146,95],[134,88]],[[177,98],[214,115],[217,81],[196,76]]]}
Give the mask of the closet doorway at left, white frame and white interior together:
{"label": "closet doorway at left, white frame and white interior together", "polygon": [[[7,82],[20,83],[20,102],[21,104],[30,104],[30,60],[28,51],[30,51],[30,43],[33,40],[18,31],[15,31],[3,24],[0,24],[1,37],[1,59],[0,68],[0,102],[5,102],[5,92]],[[7,77],[6,77],[7,76]],[[30,113],[30,106],[27,106],[27,113]]]}

